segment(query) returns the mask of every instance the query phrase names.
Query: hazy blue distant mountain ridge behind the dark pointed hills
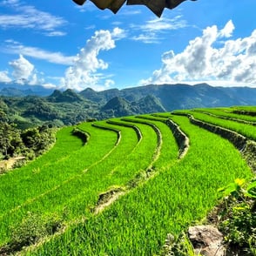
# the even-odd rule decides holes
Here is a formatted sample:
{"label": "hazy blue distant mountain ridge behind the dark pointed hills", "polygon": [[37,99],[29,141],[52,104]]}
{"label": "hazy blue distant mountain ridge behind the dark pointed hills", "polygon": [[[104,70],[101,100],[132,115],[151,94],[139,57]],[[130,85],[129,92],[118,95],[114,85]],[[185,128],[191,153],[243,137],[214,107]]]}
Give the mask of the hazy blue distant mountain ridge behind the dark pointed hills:
{"label": "hazy blue distant mountain ridge behind the dark pointed hills", "polygon": [[256,88],[249,87],[213,87],[209,84],[162,84],[145,85],[124,90],[111,89],[93,91],[87,88],[80,92],[84,98],[105,103],[114,97],[127,101],[138,101],[147,95],[158,98],[166,111],[194,107],[216,107],[256,104]]}

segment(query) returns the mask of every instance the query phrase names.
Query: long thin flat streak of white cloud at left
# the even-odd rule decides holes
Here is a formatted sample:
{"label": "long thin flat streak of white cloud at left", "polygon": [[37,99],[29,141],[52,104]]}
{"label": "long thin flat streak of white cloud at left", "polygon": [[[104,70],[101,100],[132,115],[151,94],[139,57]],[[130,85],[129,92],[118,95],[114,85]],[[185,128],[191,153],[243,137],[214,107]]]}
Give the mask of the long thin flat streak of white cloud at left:
{"label": "long thin flat streak of white cloud at left", "polygon": [[1,49],[5,53],[22,54],[24,56],[43,59],[53,64],[71,65],[74,60],[74,56],[64,56],[61,52],[45,51],[37,47],[25,46],[12,40],[6,40],[5,43]]}

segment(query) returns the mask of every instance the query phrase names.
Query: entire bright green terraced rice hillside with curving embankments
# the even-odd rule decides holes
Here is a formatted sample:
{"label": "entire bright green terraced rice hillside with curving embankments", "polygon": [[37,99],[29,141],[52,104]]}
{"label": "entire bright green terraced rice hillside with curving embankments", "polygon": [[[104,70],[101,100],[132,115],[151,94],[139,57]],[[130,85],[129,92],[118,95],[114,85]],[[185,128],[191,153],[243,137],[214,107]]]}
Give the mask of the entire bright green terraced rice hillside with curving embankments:
{"label": "entire bright green terraced rice hillside with curving embankments", "polygon": [[256,171],[256,108],[198,109],[65,127],[0,176],[0,254],[158,255]]}

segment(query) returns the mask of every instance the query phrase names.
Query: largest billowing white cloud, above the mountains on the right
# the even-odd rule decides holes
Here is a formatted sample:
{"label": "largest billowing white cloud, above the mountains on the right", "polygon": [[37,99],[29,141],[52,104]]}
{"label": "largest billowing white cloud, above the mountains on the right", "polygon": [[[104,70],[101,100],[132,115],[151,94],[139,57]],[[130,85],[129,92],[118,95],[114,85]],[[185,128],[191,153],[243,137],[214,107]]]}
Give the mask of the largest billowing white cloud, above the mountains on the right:
{"label": "largest billowing white cloud, above the mountains on the right", "polygon": [[[225,80],[230,83],[256,84],[256,30],[249,37],[229,39],[234,25],[229,21],[224,29],[216,25],[203,30],[175,54],[162,55],[162,67],[140,84],[164,84],[189,81]],[[221,39],[221,41],[220,41]],[[220,46],[214,47],[216,43]]]}

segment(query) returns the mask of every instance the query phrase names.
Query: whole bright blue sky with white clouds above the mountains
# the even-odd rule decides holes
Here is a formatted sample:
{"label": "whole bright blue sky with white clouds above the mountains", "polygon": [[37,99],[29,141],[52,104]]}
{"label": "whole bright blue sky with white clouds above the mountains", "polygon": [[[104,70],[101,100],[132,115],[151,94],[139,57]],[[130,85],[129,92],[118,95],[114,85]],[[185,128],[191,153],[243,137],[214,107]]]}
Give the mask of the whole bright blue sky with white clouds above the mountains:
{"label": "whole bright blue sky with white clouds above the mountains", "polygon": [[256,87],[256,1],[185,1],[156,17],[87,0],[0,0],[0,82],[94,90],[143,84]]}

